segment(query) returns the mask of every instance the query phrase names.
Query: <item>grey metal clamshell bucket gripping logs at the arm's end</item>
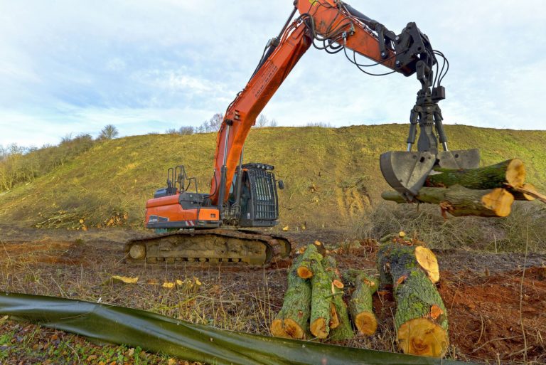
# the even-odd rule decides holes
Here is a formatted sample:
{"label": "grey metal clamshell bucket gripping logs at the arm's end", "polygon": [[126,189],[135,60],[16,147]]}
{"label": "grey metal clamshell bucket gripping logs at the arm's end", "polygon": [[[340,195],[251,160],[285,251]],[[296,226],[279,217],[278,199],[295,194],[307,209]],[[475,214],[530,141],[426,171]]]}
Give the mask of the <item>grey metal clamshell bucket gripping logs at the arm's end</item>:
{"label": "grey metal clamshell bucket gripping logs at the arm's end", "polygon": [[390,151],[381,154],[383,177],[392,189],[411,199],[424,185],[435,166],[444,169],[476,169],[480,164],[478,149],[430,152]]}

